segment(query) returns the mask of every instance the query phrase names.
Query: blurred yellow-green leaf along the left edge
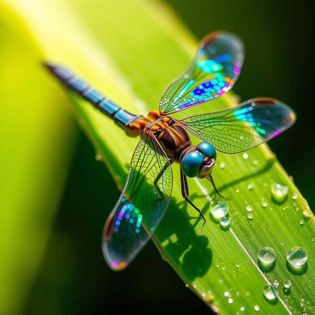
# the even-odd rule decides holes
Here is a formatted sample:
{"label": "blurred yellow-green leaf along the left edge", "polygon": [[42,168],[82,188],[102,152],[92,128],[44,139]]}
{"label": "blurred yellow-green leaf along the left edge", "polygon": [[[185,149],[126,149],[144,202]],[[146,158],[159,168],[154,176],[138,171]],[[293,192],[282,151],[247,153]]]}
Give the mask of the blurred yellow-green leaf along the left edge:
{"label": "blurred yellow-green leaf along the left edge", "polygon": [[[20,314],[40,265],[76,144],[43,52],[0,1],[0,314]],[[58,123],[56,123],[58,122]]]}

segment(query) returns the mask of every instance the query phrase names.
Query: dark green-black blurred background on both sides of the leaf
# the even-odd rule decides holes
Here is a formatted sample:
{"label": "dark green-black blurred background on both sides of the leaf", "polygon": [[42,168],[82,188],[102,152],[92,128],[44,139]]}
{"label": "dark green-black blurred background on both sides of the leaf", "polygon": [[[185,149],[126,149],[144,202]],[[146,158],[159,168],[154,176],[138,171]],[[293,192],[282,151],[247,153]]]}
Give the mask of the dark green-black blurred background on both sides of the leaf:
{"label": "dark green-black blurred background on both sides of the leaf", "polygon": [[[217,29],[243,39],[245,64],[233,88],[242,100],[270,96],[295,109],[296,124],[272,140],[270,147],[314,209],[314,24],[308,3],[171,0],[169,4],[198,39]],[[108,215],[104,209],[114,206],[120,192],[104,164],[94,157],[93,147],[81,133],[25,314],[101,314],[124,307],[138,314],[209,313],[152,242],[125,271],[109,270],[100,236]]]}

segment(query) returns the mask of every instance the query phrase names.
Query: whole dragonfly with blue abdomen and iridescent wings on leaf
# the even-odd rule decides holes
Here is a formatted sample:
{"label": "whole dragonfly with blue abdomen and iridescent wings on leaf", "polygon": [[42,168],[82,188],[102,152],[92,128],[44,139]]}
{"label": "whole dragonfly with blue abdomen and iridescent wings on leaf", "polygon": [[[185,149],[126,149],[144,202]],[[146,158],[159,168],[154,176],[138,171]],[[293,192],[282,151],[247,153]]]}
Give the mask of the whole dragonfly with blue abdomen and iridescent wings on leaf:
{"label": "whole dragonfly with blue abdomen and iridescent wings on leaf", "polygon": [[[180,165],[182,197],[206,221],[189,199],[187,177],[209,180],[221,196],[212,177],[216,151],[231,154],[249,150],[295,122],[295,112],[289,106],[266,97],[181,120],[171,116],[229,91],[243,60],[243,43],[236,35],[225,31],[207,35],[188,70],[169,84],[158,110],[147,116],[122,109],[69,69],[46,64],[63,85],[112,118],[126,135],[140,137],[123,192],[104,226],[102,251],[113,270],[122,270],[133,261],[162,220],[172,193],[172,164]],[[201,142],[192,144],[191,135]]]}

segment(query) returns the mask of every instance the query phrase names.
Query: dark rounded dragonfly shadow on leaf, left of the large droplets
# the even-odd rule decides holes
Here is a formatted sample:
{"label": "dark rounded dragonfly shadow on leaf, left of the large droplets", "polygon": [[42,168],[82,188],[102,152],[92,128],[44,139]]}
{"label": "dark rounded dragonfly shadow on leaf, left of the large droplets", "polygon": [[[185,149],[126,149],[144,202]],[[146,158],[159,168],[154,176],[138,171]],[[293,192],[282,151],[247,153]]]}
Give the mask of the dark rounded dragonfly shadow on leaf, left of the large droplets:
{"label": "dark rounded dragonfly shadow on leaf, left of the large droplets", "polygon": [[[191,195],[192,200],[201,197],[204,198],[204,195]],[[165,215],[165,224],[162,220],[154,233],[154,238],[172,266],[178,266],[177,272],[185,275],[185,280],[192,283],[197,277],[203,277],[207,273],[212,264],[213,254],[209,248],[208,238],[196,232],[197,225],[202,228],[203,219],[197,211],[196,215],[192,216],[191,211],[188,212],[188,207],[190,205],[185,200],[178,203],[176,198],[172,197]],[[204,213],[206,209],[209,209],[209,202],[201,211]],[[180,222],[180,225],[170,225],[169,222]],[[205,224],[209,222],[211,221],[208,220]]]}

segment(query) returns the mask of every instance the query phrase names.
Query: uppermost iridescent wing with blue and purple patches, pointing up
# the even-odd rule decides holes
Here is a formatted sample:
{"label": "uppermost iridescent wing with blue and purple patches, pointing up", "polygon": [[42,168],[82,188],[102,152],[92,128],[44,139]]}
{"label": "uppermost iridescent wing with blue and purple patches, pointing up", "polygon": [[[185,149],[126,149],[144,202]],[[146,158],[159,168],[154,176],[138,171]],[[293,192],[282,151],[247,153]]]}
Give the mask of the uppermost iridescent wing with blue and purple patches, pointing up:
{"label": "uppermost iridescent wing with blue and purple patches, pointing up", "polygon": [[182,111],[227,92],[238,79],[243,60],[243,43],[238,37],[221,31],[206,36],[189,69],[164,92],[161,115]]}

